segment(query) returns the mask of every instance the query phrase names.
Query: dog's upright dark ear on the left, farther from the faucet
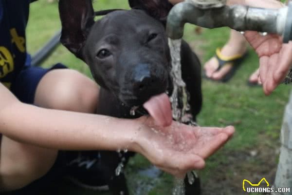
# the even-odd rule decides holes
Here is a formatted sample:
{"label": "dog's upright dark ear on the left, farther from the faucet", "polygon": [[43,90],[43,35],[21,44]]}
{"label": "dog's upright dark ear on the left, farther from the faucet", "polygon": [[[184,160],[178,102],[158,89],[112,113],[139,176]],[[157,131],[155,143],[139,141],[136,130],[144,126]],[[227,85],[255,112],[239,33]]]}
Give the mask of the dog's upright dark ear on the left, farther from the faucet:
{"label": "dog's upright dark ear on the left, farther from the faucet", "polygon": [[59,13],[62,23],[60,41],[76,57],[81,58],[80,50],[94,23],[91,0],[59,0]]}

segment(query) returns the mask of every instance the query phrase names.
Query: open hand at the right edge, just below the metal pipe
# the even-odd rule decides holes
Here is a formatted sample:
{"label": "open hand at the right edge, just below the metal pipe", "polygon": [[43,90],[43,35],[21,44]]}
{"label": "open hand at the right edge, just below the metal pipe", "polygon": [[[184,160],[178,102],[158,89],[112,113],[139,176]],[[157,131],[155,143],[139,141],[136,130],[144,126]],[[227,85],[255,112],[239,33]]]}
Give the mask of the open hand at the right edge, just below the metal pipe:
{"label": "open hand at the right edge, just below the metal pipe", "polygon": [[266,95],[270,95],[289,73],[292,42],[284,44],[278,35],[262,36],[249,31],[245,37],[259,57],[259,76]]}

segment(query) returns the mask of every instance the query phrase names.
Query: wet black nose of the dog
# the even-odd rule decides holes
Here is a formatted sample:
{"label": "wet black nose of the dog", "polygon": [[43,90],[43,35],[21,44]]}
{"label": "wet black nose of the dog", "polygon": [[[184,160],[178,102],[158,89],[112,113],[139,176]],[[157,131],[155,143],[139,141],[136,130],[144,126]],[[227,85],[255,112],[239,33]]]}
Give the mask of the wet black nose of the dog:
{"label": "wet black nose of the dog", "polygon": [[155,72],[151,72],[150,66],[147,64],[137,65],[133,76],[133,88],[139,95],[152,94],[162,88],[162,78],[159,78]]}

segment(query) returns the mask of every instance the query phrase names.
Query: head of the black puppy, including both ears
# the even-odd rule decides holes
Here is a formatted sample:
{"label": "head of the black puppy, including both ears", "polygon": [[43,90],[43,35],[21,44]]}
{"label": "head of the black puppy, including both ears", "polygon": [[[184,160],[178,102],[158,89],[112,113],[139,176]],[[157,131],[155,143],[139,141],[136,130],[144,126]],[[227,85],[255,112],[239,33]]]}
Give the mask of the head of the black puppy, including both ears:
{"label": "head of the black puppy, including both ears", "polygon": [[91,0],[60,0],[61,42],[85,61],[96,82],[128,106],[142,105],[169,85],[164,22],[167,0],[129,0],[131,10],[94,21]]}

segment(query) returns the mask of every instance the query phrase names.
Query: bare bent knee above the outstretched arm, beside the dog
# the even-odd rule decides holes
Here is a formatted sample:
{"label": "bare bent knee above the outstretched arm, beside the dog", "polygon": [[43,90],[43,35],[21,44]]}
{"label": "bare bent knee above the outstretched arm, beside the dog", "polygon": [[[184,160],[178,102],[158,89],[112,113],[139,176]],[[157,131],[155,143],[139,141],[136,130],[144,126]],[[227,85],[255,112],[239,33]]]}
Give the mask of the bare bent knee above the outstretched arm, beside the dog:
{"label": "bare bent knee above the outstretched arm, beside the dog", "polygon": [[[51,86],[48,86],[50,83]],[[77,71],[52,71],[41,80],[38,88],[41,88],[37,91],[41,91],[42,95],[37,93],[37,96],[43,97],[43,94],[46,94],[46,97],[42,99],[36,96],[35,100],[38,101],[36,103],[39,106],[85,113],[93,113],[96,109],[98,86]],[[44,89],[50,89],[50,91]]]}

